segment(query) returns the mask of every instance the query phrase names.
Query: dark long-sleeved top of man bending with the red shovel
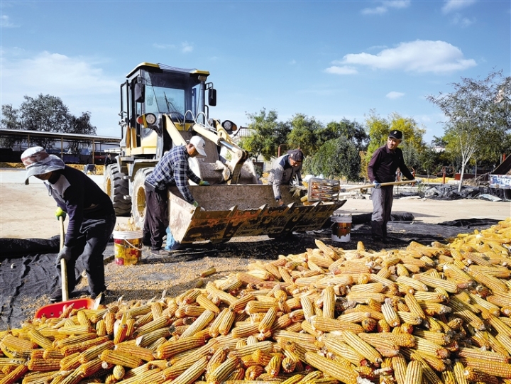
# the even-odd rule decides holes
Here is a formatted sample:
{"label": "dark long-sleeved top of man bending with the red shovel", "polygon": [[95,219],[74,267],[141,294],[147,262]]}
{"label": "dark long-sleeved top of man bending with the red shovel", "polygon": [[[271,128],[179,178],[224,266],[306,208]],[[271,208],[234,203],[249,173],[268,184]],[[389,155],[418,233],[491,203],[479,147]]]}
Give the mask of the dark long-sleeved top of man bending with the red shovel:
{"label": "dark long-sleeved top of man bending with the red shovel", "polygon": [[45,185],[50,196],[62,211],[67,212],[69,218],[65,246],[74,245],[84,219],[99,219],[115,214],[109,195],[84,172],[75,168],[66,165],[63,170],[53,171]]}

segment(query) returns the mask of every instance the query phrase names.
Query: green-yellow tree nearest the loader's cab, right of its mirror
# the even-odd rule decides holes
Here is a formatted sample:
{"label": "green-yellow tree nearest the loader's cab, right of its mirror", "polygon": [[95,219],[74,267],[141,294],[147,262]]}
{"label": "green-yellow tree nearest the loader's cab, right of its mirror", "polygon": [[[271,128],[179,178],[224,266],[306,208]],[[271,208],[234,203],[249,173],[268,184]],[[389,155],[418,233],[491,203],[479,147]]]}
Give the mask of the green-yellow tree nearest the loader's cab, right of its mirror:
{"label": "green-yellow tree nearest the loader's cab, right of its mirror", "polygon": [[241,148],[248,150],[257,159],[262,155],[265,160],[270,160],[278,153],[278,146],[286,143],[287,133],[290,131],[289,124],[278,121],[278,114],[275,110],[261,109],[258,114],[247,114],[251,123],[248,128],[251,136],[242,138]]}

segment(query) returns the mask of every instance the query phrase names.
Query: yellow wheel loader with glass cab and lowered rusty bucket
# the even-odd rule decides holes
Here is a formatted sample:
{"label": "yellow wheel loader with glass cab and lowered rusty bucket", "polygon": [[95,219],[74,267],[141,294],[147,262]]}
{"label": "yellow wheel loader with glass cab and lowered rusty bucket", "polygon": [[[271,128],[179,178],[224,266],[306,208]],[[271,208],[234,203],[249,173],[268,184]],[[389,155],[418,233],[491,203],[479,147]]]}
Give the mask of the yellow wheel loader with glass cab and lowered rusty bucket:
{"label": "yellow wheel loader with glass cab and lowered rusty bucket", "polygon": [[190,168],[210,186],[190,190],[199,207],[169,189],[170,228],[176,241],[229,241],[233,236],[286,236],[293,231],[320,229],[346,200],[304,204],[282,186],[285,205],[278,206],[271,185],[263,185],[248,153],[230,134],[232,121],[209,118],[216,89],[209,72],[142,62],[121,84],[122,140],[116,163],[106,167],[104,190],[118,216],[131,213],[142,228],[144,181],[173,146],[194,135],[206,142],[206,158],[189,158]]}

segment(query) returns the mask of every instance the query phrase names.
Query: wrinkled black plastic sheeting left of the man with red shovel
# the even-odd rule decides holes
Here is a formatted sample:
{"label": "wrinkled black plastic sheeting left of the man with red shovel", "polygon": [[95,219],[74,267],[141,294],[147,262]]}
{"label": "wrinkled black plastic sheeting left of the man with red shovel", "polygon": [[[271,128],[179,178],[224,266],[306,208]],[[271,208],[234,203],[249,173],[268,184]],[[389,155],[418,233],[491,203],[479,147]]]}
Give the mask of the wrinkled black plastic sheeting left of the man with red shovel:
{"label": "wrinkled black plastic sheeting left of the man with red shovel", "polygon": [[[60,288],[55,265],[59,246],[60,236],[0,238],[0,330],[18,327],[35,312],[31,298],[49,296]],[[83,270],[82,260],[78,259],[77,281]]]}

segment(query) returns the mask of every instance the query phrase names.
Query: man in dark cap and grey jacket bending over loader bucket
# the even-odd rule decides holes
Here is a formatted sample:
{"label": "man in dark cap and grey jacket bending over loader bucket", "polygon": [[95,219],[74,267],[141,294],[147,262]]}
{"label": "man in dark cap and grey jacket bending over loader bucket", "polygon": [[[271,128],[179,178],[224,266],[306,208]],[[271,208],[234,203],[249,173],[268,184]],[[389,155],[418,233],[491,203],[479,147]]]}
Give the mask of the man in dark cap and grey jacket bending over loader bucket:
{"label": "man in dark cap and grey jacket bending over loader bucket", "polygon": [[273,185],[273,195],[279,205],[284,204],[280,194],[280,185],[290,185],[293,180],[297,181],[298,185],[302,185],[303,159],[302,150],[293,149],[277,158],[273,163],[270,175],[268,175],[268,184]]}

